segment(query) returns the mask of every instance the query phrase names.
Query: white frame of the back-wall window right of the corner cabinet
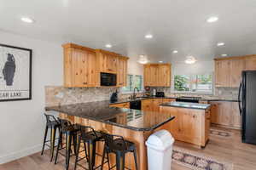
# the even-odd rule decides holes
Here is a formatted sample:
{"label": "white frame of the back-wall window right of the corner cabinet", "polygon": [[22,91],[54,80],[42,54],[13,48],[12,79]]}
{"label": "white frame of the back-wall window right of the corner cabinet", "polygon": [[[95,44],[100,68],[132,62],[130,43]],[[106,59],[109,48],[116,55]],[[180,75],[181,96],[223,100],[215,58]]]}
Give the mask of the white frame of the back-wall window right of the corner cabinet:
{"label": "white frame of the back-wall window right of the corner cabinet", "polygon": [[[203,92],[193,92],[191,90],[191,83],[189,83],[189,91],[177,91],[175,90],[175,76],[183,76],[183,75],[186,75],[186,76],[189,76],[189,81],[191,81],[191,77],[192,76],[198,76],[198,75],[212,75],[212,91],[211,92],[207,92],[207,91],[203,91]],[[209,95],[212,95],[214,94],[214,73],[213,72],[207,72],[207,73],[198,73],[198,74],[176,74],[176,75],[173,75],[172,76],[172,88],[171,88],[171,93],[174,93],[174,94],[209,94]]]}

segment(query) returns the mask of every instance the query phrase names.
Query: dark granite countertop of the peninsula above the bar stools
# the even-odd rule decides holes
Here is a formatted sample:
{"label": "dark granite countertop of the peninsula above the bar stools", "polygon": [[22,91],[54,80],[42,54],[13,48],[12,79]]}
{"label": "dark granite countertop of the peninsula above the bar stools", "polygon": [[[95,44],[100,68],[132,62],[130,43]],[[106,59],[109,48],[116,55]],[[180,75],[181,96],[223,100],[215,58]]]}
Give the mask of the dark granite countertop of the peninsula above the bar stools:
{"label": "dark granite countertop of the peninsula above the bar stools", "polygon": [[45,107],[45,111],[58,111],[69,116],[79,116],[136,131],[152,131],[172,121],[174,116],[154,111],[139,111],[109,107],[109,100],[73,105]]}

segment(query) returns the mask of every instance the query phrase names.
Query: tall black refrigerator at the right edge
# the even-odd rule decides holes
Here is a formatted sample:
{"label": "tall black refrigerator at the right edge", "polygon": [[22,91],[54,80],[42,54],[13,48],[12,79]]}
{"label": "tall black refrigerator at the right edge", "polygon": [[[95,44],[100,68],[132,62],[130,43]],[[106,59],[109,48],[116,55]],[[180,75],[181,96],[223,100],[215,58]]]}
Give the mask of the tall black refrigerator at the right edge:
{"label": "tall black refrigerator at the right edge", "polygon": [[256,144],[256,71],[242,71],[238,94],[241,141]]}

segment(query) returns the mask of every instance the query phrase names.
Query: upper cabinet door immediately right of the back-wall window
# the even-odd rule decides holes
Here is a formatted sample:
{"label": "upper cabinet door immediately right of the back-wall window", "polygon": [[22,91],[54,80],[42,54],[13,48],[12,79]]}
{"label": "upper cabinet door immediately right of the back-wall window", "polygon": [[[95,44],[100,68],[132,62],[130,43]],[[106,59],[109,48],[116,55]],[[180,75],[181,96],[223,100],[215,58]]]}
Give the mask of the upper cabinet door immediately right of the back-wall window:
{"label": "upper cabinet door immediately right of the back-wall window", "polygon": [[230,87],[230,60],[215,61],[215,86]]}

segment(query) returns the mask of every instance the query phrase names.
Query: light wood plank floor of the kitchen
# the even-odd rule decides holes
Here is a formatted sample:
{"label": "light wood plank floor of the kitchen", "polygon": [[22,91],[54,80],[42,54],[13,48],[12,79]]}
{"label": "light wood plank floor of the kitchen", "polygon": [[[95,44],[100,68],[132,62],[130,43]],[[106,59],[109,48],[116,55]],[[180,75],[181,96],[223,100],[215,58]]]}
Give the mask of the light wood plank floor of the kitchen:
{"label": "light wood plank floor of the kitchen", "polygon": [[[233,163],[234,170],[256,169],[256,145],[242,144],[239,131],[223,128],[219,129],[228,130],[234,133],[234,135],[231,138],[211,136],[204,150],[198,149],[192,144],[182,142],[175,142],[175,145],[188,150],[198,151],[205,156],[211,156],[220,161]],[[26,156],[19,160],[0,165],[0,170],[63,170],[64,163],[65,161],[62,156],[60,156],[60,161],[57,165],[53,162],[50,163],[49,151],[47,150],[44,156],[40,156],[40,153],[36,153],[32,156]],[[73,169],[73,164],[70,165],[70,169]],[[78,169],[80,170],[81,168]],[[189,169],[172,163],[172,170]]]}

